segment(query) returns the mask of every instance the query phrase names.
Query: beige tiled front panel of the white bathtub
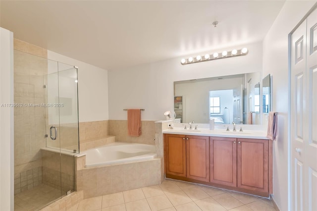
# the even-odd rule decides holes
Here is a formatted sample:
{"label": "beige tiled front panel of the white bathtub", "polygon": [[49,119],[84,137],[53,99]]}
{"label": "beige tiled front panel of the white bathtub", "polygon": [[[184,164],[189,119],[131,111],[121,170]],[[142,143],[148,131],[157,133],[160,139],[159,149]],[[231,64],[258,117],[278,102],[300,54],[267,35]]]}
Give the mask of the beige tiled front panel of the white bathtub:
{"label": "beige tiled front panel of the white bathtub", "polygon": [[161,183],[161,158],[84,168],[85,157],[76,160],[77,190],[84,199]]}

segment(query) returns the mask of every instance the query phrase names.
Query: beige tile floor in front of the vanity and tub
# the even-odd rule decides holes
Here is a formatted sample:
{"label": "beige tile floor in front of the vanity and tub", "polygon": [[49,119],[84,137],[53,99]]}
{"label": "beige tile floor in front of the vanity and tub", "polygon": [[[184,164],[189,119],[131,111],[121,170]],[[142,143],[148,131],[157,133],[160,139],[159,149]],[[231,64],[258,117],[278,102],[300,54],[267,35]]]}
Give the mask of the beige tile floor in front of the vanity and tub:
{"label": "beige tile floor in front of the vanity and tub", "polygon": [[166,179],[160,185],[85,199],[72,211],[275,211],[269,199]]}

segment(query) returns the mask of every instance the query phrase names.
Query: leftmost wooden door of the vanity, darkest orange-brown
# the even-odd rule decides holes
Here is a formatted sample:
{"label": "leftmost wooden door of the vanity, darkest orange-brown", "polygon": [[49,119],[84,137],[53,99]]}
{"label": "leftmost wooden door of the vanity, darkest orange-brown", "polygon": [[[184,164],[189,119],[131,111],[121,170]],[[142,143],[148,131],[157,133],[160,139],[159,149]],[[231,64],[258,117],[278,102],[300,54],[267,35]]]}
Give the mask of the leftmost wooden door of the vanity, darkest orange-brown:
{"label": "leftmost wooden door of the vanity, darkest orange-brown", "polygon": [[166,174],[186,177],[185,135],[165,134]]}

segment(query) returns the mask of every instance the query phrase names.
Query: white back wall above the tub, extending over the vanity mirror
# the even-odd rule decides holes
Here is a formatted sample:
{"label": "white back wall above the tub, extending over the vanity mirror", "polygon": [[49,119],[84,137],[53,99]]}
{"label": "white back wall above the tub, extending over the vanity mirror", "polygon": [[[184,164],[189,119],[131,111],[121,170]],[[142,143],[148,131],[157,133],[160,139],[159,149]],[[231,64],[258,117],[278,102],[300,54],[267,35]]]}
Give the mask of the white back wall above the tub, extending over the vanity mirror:
{"label": "white back wall above the tub, extending over the vanity mirror", "polygon": [[[108,71],[109,119],[126,120],[124,108],[144,108],[142,120],[164,119],[173,110],[173,82],[197,78],[262,71],[262,42],[211,50],[206,53],[247,47],[246,56],[181,65],[181,58],[168,59],[116,71]],[[155,51],[155,50],[154,50]],[[204,55],[202,52],[201,55]],[[191,55],[195,56],[195,55]]]}

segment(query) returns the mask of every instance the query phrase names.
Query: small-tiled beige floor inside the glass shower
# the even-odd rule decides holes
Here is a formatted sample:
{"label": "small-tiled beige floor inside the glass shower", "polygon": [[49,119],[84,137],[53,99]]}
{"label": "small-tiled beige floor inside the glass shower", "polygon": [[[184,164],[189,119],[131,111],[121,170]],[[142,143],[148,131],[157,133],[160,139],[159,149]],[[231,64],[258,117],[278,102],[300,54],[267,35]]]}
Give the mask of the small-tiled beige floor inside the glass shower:
{"label": "small-tiled beige floor inside the glass shower", "polygon": [[14,211],[36,211],[60,197],[61,191],[41,184],[14,195]]}

